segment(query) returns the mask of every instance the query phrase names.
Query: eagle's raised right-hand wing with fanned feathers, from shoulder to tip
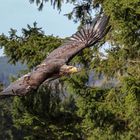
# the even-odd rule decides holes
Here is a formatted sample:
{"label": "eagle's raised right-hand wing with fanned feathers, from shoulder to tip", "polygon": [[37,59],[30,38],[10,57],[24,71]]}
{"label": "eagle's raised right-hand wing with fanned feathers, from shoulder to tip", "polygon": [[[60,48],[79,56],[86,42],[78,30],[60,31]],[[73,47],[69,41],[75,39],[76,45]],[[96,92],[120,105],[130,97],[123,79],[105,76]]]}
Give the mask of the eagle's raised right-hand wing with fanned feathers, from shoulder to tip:
{"label": "eagle's raised right-hand wing with fanned feathers, from shoulder to tip", "polygon": [[45,61],[55,58],[64,59],[66,63],[69,62],[79,51],[94,45],[105,36],[108,21],[109,18],[105,15],[101,18],[96,18],[93,24],[82,27],[64,45],[50,53]]}

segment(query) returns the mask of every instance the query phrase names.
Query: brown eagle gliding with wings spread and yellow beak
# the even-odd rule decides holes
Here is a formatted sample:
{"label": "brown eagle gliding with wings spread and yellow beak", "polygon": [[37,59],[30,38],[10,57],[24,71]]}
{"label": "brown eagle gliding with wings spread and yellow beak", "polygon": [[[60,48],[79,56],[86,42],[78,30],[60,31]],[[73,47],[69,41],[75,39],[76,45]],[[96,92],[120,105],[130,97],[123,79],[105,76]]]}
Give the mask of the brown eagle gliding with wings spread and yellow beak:
{"label": "brown eagle gliding with wings spread and yellow beak", "polygon": [[109,17],[102,15],[73,34],[63,45],[53,50],[46,59],[31,72],[22,76],[4,89],[0,96],[25,96],[48,79],[78,72],[69,66],[70,60],[80,51],[99,42],[109,31]]}

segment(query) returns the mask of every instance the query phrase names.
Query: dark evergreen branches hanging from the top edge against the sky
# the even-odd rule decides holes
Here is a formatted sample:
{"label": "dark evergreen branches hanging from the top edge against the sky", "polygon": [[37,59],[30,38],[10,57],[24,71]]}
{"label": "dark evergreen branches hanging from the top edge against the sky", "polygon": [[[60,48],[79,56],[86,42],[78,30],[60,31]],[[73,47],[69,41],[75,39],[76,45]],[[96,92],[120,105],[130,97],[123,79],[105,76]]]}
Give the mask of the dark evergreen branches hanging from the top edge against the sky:
{"label": "dark evergreen branches hanging from the top edge against the sky", "polygon": [[[95,9],[96,12],[97,9],[100,9],[100,5],[96,3],[96,1],[92,0],[83,0],[83,1],[77,1],[77,0],[29,0],[30,3],[35,3],[39,10],[42,10],[43,7],[45,7],[45,3],[49,2],[53,6],[53,8],[57,8],[57,10],[61,11],[62,5],[65,3],[73,4],[74,8],[70,13],[66,13],[65,16],[68,17],[68,19],[73,19],[74,22],[80,21],[82,24],[89,23],[92,20],[93,16],[93,10]],[[99,13],[99,11],[98,11]]]}

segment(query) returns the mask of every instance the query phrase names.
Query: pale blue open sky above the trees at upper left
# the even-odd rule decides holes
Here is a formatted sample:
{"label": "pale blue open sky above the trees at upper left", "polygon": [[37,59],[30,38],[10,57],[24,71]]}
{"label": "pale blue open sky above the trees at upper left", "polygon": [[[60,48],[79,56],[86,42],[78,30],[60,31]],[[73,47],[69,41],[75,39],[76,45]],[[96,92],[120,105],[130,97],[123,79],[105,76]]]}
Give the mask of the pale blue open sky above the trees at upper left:
{"label": "pale blue open sky above the trees at upper left", "polygon": [[[42,11],[38,11],[35,4],[30,4],[29,0],[6,0],[0,4],[0,34],[8,35],[10,28],[16,29],[21,34],[21,29],[27,24],[33,25],[37,22],[38,27],[42,27],[47,35],[68,37],[75,33],[78,24],[67,19],[64,14],[70,12],[72,6],[65,4],[59,13],[54,10],[50,3],[46,3]],[[0,56],[3,50],[0,49]]]}

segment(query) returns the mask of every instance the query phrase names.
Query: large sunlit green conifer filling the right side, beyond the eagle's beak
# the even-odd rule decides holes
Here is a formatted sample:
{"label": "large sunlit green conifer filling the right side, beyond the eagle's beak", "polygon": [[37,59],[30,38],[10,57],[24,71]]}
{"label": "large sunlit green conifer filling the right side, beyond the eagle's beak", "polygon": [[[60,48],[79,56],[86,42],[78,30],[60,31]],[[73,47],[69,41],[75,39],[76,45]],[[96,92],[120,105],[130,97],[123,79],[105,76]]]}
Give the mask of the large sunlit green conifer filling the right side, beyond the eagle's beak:
{"label": "large sunlit green conifer filling the right side, beyond the eagle's beak", "polygon": [[[102,57],[97,50],[92,59],[83,61],[88,69],[94,68],[104,79],[115,79],[115,87],[90,88],[90,71],[82,71],[68,81],[70,92],[78,95],[77,114],[82,117],[80,128],[85,139],[139,139],[140,128],[140,34],[139,1],[96,1],[110,15],[112,29],[106,40],[111,45]],[[82,65],[83,66],[83,65]],[[106,89],[107,88],[107,89]],[[95,98],[98,97],[98,98]]]}

